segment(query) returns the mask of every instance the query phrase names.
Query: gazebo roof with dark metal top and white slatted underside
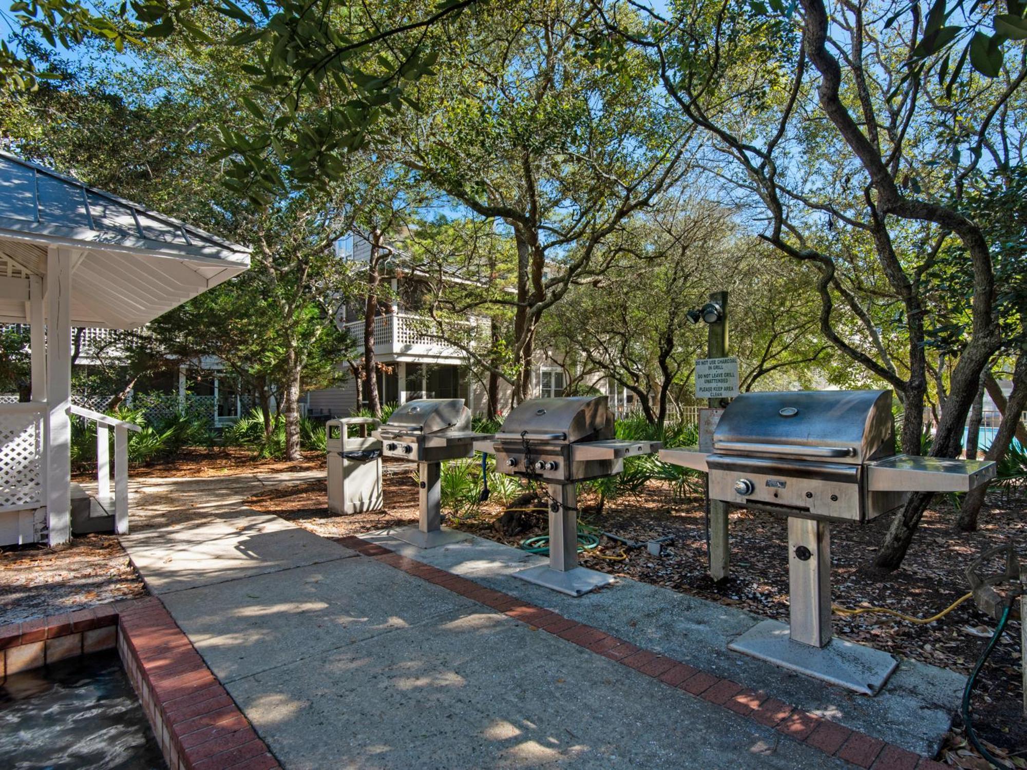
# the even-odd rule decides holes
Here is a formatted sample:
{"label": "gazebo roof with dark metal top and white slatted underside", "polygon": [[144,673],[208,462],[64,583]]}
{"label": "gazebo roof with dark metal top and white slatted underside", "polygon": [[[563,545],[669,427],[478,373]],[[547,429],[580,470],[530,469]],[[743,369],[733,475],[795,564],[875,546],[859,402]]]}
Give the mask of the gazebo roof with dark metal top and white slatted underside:
{"label": "gazebo roof with dark metal top and white slatted underside", "polygon": [[72,325],[132,329],[250,267],[250,249],[0,152],[0,321],[27,320],[46,254],[73,261]]}

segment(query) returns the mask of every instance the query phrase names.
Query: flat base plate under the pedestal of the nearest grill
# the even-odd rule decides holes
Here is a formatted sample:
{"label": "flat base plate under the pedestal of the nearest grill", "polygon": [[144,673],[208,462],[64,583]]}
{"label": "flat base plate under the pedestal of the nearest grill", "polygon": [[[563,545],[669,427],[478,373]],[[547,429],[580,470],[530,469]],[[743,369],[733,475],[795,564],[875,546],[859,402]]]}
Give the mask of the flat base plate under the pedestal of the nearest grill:
{"label": "flat base plate under the pedestal of the nearest grill", "polygon": [[787,623],[764,620],[727,646],[728,650],[779,665],[807,677],[874,695],[899,666],[886,652],[835,637],[827,647],[793,642]]}

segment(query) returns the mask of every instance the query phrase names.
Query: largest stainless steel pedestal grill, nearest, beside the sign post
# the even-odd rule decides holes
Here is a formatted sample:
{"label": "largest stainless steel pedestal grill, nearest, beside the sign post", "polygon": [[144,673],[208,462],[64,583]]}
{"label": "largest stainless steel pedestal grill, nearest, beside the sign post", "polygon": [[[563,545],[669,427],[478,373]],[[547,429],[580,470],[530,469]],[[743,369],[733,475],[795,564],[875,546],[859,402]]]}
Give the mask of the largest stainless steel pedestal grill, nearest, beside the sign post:
{"label": "largest stainless steel pedestal grill, nearest, beside the sign post", "polygon": [[[663,450],[660,459],[708,472],[712,500],[788,517],[789,632],[765,621],[731,649],[868,694],[890,676],[891,656],[848,645],[869,650],[866,659],[839,653],[820,665],[788,647],[831,642],[830,523],[867,522],[911,493],[967,492],[995,474],[991,462],[897,455],[889,390],[745,393],[724,410],[712,453]],[[886,660],[868,663],[870,653]]]}

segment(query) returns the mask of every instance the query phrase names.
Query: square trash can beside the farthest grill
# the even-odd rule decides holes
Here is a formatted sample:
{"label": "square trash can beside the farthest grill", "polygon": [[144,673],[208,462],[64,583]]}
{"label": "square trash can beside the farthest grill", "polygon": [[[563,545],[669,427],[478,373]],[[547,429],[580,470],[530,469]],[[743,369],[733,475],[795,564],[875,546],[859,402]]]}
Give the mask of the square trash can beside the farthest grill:
{"label": "square trash can beside the farthest grill", "polygon": [[[328,450],[328,509],[360,513],[382,507],[382,442],[371,435],[380,420],[347,417],[325,423]],[[358,435],[349,435],[357,426]]]}

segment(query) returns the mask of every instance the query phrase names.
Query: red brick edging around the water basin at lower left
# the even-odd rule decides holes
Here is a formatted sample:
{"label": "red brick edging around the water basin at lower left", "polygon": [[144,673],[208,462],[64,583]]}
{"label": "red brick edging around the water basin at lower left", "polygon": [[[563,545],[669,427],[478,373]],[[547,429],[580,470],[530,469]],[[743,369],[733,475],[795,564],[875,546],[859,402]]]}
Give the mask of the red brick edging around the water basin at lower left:
{"label": "red brick edging around the water basin at lower left", "polygon": [[170,770],[279,768],[156,596],[0,627],[5,676],[115,646]]}

